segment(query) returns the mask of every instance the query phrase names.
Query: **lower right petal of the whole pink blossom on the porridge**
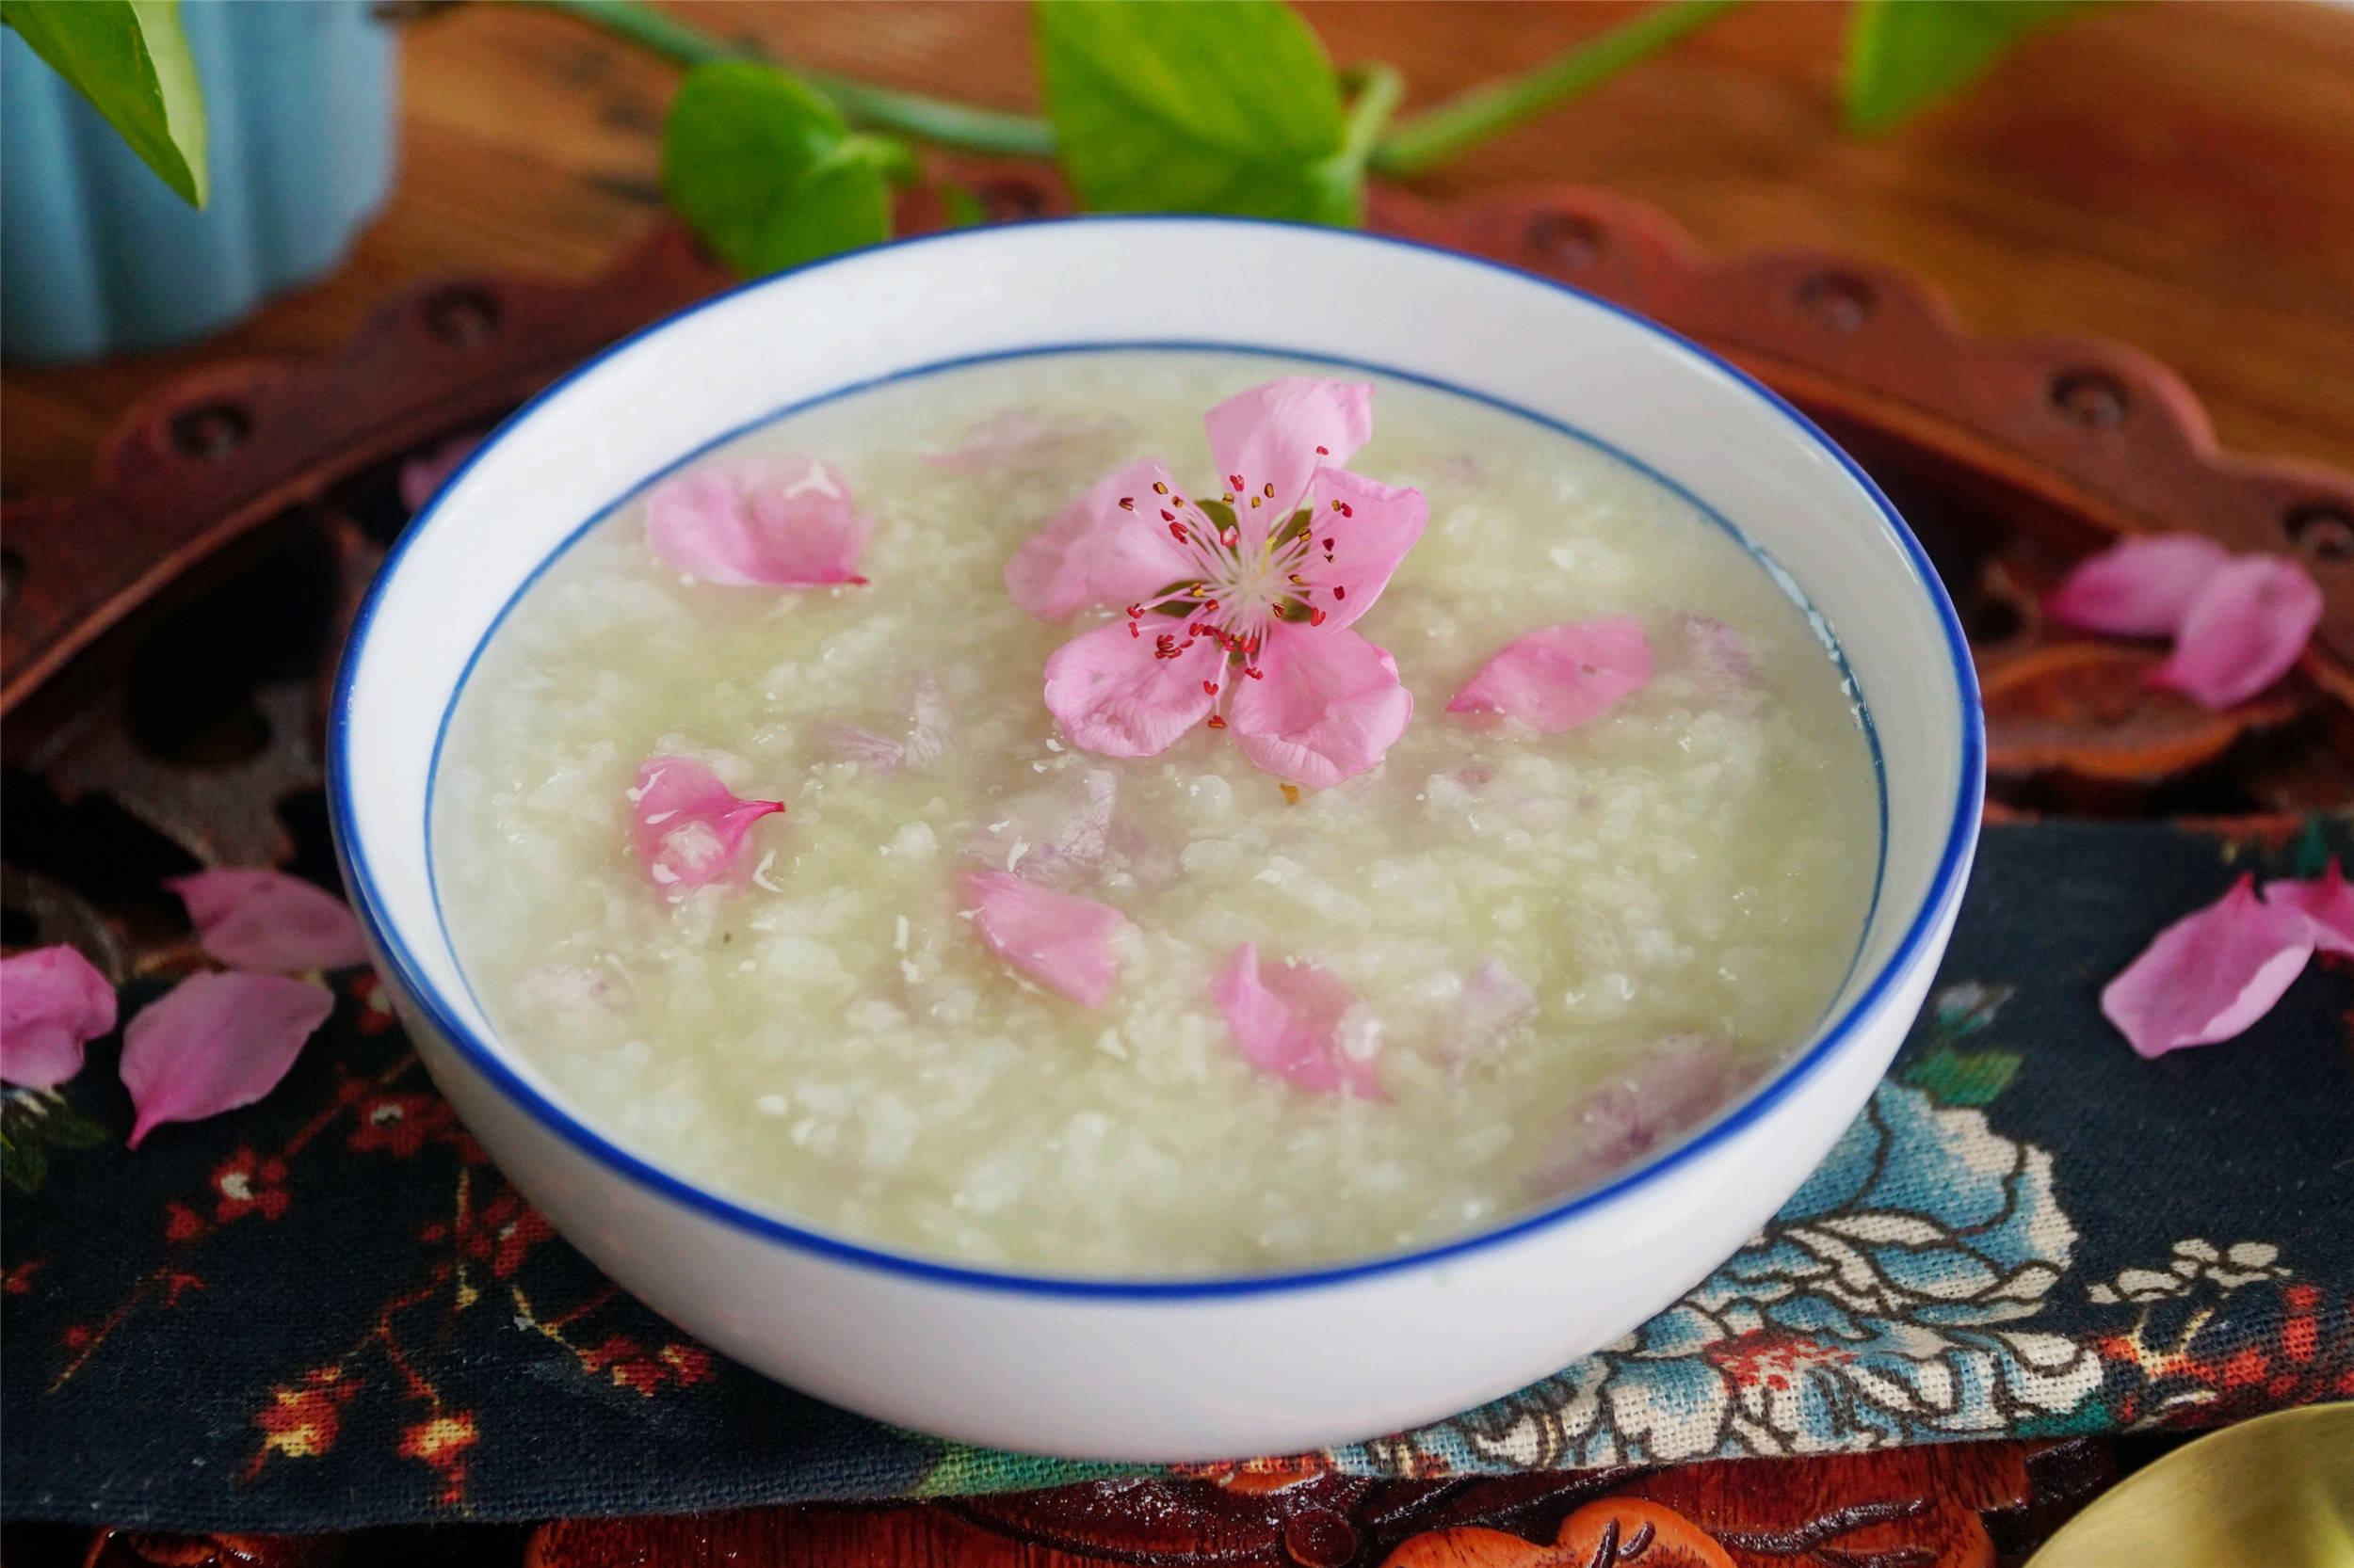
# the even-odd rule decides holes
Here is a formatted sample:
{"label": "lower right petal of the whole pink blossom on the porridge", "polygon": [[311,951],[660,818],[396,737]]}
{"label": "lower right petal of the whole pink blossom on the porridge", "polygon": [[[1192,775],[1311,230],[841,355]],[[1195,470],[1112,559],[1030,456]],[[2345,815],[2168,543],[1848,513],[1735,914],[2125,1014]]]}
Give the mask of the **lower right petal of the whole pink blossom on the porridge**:
{"label": "lower right petal of the whole pink blossom on the porridge", "polygon": [[1415,697],[1398,685],[1387,650],[1339,626],[1299,626],[1266,633],[1259,680],[1236,680],[1233,725],[1243,756],[1266,772],[1325,789],[1382,760],[1405,735]]}

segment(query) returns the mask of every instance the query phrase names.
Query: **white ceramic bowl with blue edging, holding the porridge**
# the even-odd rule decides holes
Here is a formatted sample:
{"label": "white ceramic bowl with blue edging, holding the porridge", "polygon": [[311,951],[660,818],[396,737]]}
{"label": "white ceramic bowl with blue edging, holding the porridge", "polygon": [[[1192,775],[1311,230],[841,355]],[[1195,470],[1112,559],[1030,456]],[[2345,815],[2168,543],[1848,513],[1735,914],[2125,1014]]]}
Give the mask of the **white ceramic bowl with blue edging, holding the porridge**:
{"label": "white ceramic bowl with blue edging, holding the porridge", "polygon": [[[428,873],[443,720],[501,607],[588,518],[772,414],[1052,346],[1274,348],[1572,426],[1730,520],[1806,593],[1876,730],[1883,864],[1820,1034],[1678,1147],[1492,1231],[1299,1274],[967,1269],[697,1187],[591,1128],[483,1017]],[[1977,843],[1954,610],[1862,471],[1756,381],[1615,306],[1372,235],[1224,219],[977,228],[767,278],[643,332],[492,436],[386,560],[330,735],[344,876],[433,1081],[612,1278],[810,1394],[1033,1453],[1215,1460],[1436,1420],[1669,1304],[1791,1194],[1930,984]]]}

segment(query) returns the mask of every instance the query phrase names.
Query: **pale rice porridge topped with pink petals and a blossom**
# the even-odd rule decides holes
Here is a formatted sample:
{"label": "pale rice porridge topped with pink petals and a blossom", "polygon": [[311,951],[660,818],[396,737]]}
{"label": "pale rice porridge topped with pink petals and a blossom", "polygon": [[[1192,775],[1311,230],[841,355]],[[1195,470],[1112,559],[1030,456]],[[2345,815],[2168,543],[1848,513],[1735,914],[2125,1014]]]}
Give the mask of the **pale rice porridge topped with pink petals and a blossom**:
{"label": "pale rice porridge topped with pink petals and a blossom", "polygon": [[499,1034],[694,1182],[1071,1276],[1422,1245],[1704,1121],[1864,925],[1841,669],[1657,480],[1384,377],[1365,440],[1358,381],[930,372],[586,527],[435,763]]}

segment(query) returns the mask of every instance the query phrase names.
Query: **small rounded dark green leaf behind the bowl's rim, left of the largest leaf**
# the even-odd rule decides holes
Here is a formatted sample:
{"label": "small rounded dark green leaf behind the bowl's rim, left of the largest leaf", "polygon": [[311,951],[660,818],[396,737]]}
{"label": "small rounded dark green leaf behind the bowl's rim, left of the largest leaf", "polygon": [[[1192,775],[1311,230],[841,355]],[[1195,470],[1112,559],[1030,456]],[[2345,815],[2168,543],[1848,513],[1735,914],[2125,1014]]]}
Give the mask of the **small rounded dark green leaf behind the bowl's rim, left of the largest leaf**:
{"label": "small rounded dark green leaf behind the bowl's rim, left of the largest leaf", "polygon": [[671,207],[739,273],[774,273],[890,238],[890,181],[906,148],[855,137],[774,66],[697,66],[661,127]]}

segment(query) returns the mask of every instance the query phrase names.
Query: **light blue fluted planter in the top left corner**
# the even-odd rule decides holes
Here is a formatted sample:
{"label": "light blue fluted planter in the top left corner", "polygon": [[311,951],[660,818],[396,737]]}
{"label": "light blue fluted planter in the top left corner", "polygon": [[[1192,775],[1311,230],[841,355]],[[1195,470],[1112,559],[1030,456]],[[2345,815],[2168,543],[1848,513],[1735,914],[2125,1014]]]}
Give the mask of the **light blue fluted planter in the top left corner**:
{"label": "light blue fluted planter in the top left corner", "polygon": [[395,52],[365,0],[184,0],[212,205],[191,210],[0,33],[0,353],[162,348],[341,261],[393,184]]}

